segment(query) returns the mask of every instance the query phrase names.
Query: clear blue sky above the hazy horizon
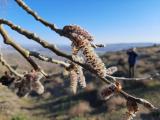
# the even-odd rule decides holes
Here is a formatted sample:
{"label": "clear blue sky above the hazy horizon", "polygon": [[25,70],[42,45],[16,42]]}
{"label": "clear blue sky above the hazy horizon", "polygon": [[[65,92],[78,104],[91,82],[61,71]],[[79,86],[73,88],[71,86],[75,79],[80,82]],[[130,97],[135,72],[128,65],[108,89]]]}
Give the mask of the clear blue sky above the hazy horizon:
{"label": "clear blue sky above the hazy horizon", "polygon": [[[1,1],[1,0],[0,0]],[[0,18],[37,33],[56,44],[70,44],[51,30],[27,15],[14,0],[1,2]],[[59,28],[77,24],[87,29],[96,43],[160,43],[160,0],[25,0],[46,20]],[[3,5],[3,6],[2,6]],[[33,44],[31,40],[10,30],[10,35],[21,44]],[[0,37],[0,43],[2,38]]]}

